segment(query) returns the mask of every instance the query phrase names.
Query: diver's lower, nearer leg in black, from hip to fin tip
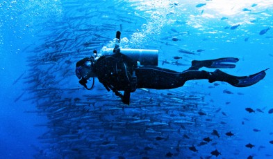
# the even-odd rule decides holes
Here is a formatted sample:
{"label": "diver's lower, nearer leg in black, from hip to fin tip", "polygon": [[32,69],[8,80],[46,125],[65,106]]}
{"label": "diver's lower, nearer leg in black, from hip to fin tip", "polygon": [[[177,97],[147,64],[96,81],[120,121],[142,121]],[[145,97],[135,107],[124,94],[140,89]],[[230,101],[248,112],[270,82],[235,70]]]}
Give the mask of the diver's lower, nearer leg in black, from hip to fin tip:
{"label": "diver's lower, nearer leg in black, from hip to fin tip", "polygon": [[208,79],[210,83],[222,81],[227,82],[232,86],[245,87],[256,84],[263,79],[265,77],[266,70],[260,71],[254,75],[237,77],[224,73],[218,69],[214,72],[192,70],[179,73],[164,68],[145,66],[136,68],[135,74],[138,77],[138,88],[177,88],[183,86],[186,81],[193,79]]}

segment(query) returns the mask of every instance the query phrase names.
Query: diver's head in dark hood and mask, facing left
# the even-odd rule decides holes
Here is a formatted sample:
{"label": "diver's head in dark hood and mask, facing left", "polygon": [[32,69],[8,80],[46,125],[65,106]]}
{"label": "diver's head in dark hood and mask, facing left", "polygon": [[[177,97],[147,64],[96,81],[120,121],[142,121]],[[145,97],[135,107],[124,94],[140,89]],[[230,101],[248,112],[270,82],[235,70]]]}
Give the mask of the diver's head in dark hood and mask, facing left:
{"label": "diver's head in dark hood and mask, facing left", "polygon": [[94,73],[94,59],[85,57],[76,63],[76,76],[78,79],[88,80],[90,77],[96,77]]}

